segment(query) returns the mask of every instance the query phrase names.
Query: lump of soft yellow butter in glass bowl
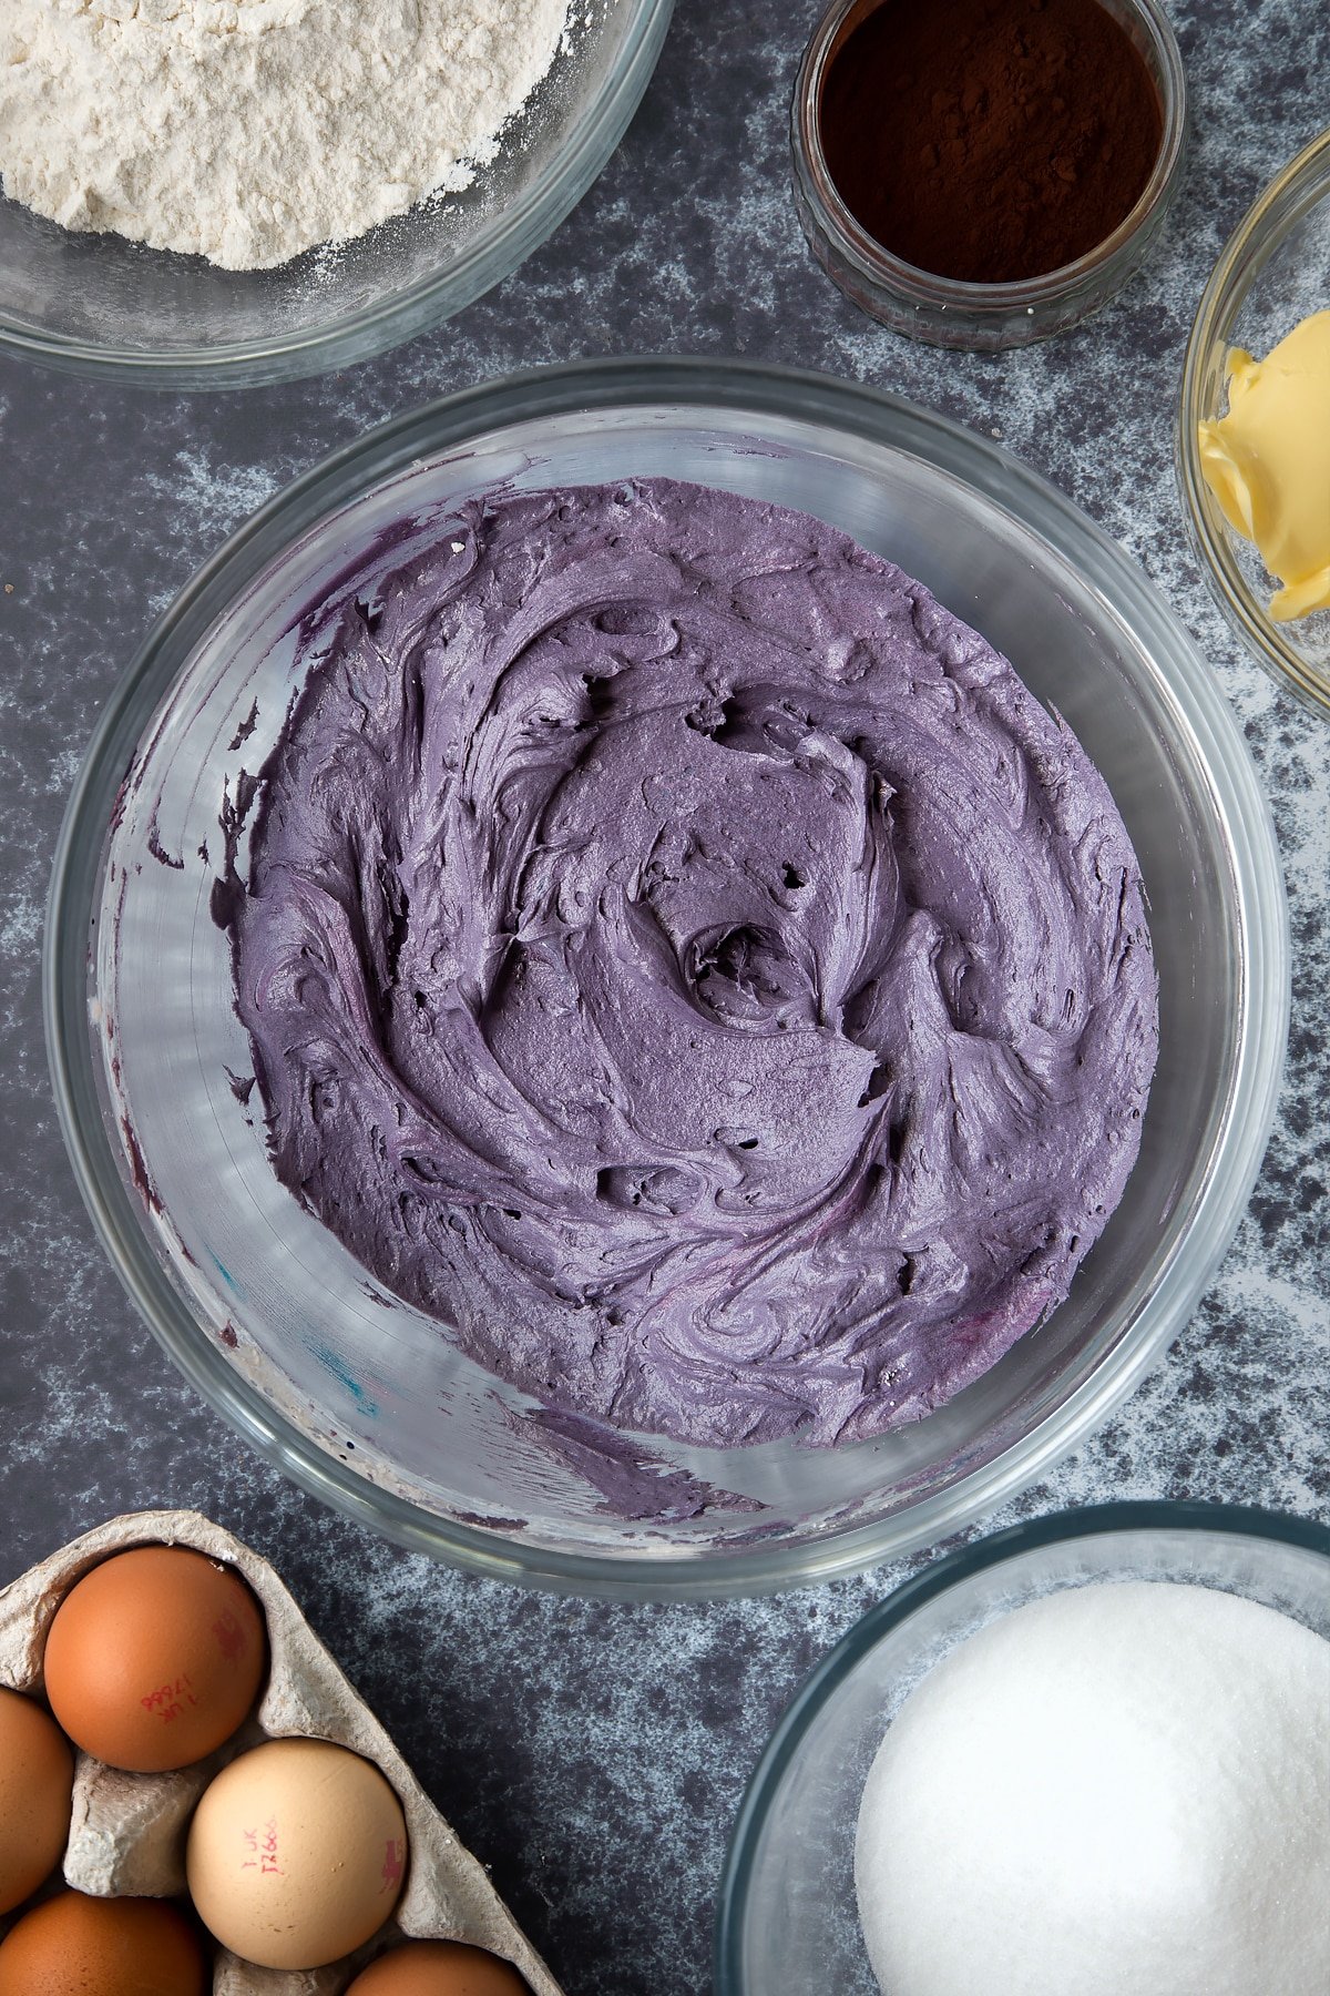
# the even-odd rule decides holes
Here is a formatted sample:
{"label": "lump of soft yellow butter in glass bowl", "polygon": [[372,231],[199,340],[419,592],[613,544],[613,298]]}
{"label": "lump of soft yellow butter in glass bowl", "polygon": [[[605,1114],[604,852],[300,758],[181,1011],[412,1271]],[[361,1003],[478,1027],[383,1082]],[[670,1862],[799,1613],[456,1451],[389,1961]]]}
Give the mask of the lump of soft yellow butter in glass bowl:
{"label": "lump of soft yellow butter in glass bowl", "polygon": [[1228,415],[1200,423],[1200,467],[1224,519],[1284,585],[1270,617],[1330,609],[1330,311],[1264,357],[1228,355]]}

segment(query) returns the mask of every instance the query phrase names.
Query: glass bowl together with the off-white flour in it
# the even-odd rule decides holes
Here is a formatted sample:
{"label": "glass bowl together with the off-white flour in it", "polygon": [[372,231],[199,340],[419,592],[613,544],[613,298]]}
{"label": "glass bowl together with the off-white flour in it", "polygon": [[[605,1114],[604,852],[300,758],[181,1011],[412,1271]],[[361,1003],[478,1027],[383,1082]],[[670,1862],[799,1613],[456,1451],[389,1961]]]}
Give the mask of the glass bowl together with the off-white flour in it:
{"label": "glass bowl together with the off-white flour in it", "polygon": [[0,345],[173,389],[383,353],[580,202],[670,12],[22,0],[0,22]]}

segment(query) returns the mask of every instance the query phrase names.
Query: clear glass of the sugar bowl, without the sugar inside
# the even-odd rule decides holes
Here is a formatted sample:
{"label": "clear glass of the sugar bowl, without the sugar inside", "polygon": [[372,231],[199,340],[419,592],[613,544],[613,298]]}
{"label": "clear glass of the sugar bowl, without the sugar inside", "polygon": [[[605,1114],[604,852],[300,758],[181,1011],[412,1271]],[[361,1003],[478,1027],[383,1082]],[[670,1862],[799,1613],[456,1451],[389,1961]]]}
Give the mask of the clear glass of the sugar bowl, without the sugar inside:
{"label": "clear glass of the sugar bowl, without the sugar inside", "polygon": [[913,1687],[985,1623],[1063,1587],[1117,1581],[1216,1587],[1330,1637],[1330,1531],[1278,1511],[1095,1505],[935,1561],[841,1637],[772,1733],[730,1836],[716,1996],[879,1996],[853,1842],[883,1733]]}

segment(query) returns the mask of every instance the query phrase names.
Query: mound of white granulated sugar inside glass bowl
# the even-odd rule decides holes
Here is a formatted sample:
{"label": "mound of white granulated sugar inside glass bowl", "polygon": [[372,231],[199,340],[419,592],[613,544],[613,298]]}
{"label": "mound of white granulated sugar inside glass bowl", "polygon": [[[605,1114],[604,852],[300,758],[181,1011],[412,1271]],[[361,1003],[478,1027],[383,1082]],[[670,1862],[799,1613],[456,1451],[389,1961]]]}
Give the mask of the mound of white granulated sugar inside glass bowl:
{"label": "mound of white granulated sugar inside glass bowl", "polygon": [[887,1731],[855,1884],[887,1996],[1326,1996],[1330,1643],[1170,1583],[999,1617]]}

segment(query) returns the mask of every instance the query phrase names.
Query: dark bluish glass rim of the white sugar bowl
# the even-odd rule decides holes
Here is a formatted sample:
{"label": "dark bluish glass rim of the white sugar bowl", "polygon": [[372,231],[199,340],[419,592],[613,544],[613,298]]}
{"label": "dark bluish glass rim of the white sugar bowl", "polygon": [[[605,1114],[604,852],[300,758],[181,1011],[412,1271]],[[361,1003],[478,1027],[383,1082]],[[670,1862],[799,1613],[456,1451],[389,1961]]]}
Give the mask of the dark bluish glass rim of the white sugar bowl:
{"label": "dark bluish glass rim of the white sugar bowl", "polygon": [[1262,1505],[1206,1503],[1196,1497],[1145,1497],[1097,1505],[1073,1505],[1041,1517],[1005,1525],[971,1545],[931,1559],[919,1573],[893,1587],[881,1601],[849,1625],[843,1637],[814,1665],[772,1727],[756,1768],[740,1798],[716,1890],[714,1990],[742,1996],[744,1910],[752,1882],[754,1852],[780,1792],[786,1768],[804,1735],[835,1695],[837,1687],[869,1651],[925,1603],[961,1581],[1001,1567],[1045,1545],[1111,1537],[1129,1531],[1214,1531],[1236,1539],[1274,1539],[1320,1557],[1330,1567],[1330,1525],[1296,1511],[1268,1511]]}

